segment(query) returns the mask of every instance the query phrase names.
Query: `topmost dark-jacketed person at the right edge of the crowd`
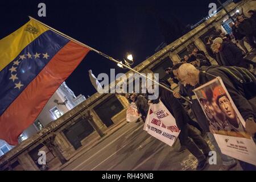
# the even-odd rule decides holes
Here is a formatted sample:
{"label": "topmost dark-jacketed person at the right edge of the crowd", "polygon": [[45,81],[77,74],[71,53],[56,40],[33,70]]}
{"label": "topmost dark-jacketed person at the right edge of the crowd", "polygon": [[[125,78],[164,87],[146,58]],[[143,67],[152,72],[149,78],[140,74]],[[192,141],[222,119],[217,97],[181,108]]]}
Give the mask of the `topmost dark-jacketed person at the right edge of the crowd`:
{"label": "topmost dark-jacketed person at the right edge of the crowd", "polygon": [[243,18],[243,16],[237,16],[238,31],[240,34],[245,35],[247,41],[250,46],[256,48],[256,44],[254,43],[254,38],[256,36],[256,24],[253,19]]}

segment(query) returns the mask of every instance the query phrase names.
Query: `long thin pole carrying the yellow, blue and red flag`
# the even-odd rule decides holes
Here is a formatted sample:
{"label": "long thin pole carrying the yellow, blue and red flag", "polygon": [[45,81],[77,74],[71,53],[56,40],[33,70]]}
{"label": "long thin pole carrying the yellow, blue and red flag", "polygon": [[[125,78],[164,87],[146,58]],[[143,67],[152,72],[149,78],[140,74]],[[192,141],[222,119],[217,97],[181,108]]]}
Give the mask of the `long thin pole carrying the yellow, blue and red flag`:
{"label": "long thin pole carrying the yellow, blue and red flag", "polygon": [[[128,67],[127,65],[123,64],[122,62],[119,62],[119,61],[115,60],[113,57],[110,57],[110,56],[106,55],[105,53],[102,53],[102,52],[100,52],[100,51],[98,51],[98,50],[96,50],[96,49],[94,49],[94,48],[92,48],[92,47],[90,47],[90,46],[87,46],[86,44],[81,43],[79,40],[73,39],[73,38],[71,38],[71,36],[68,36],[68,35],[64,34],[63,32],[60,32],[60,31],[56,30],[55,28],[52,28],[52,27],[48,26],[47,24],[45,24],[45,23],[43,23],[43,22],[40,22],[39,20],[37,20],[37,19],[35,19],[35,18],[31,17],[31,16],[28,16],[28,18],[34,20],[35,22],[38,22],[38,23],[40,23],[40,24],[43,24],[43,26],[45,26],[45,27],[51,29],[52,31],[56,32],[57,34],[59,34],[59,35],[61,35],[61,36],[64,36],[65,38],[67,38],[67,39],[69,39],[69,40],[72,40],[73,42],[76,42],[77,44],[80,44],[81,46],[84,46],[84,47],[90,49],[91,51],[94,51],[94,52],[98,53],[99,55],[104,56],[104,57],[106,57],[107,59],[109,59],[109,60],[111,60],[111,61],[114,61],[114,62],[117,63],[117,64],[121,64],[123,67],[125,67],[125,68],[127,68],[127,69],[130,69],[130,71],[133,71],[133,72],[135,72],[135,73],[138,73],[139,75],[141,75],[141,76],[143,76],[143,77],[145,77],[145,78],[147,78],[147,79],[149,79],[149,80],[155,82],[156,84],[158,84],[158,85],[161,86],[162,88],[164,88],[164,89],[166,89],[166,90],[168,90],[168,91],[174,93],[174,91],[171,90],[170,88],[167,88],[167,86],[164,86],[164,85],[160,84],[159,82],[156,82],[155,80],[152,80],[150,77],[147,77],[147,76],[143,75],[142,73],[139,73],[138,71],[135,71],[135,69],[130,68],[130,67]],[[189,101],[187,98],[185,98],[185,97],[183,97],[183,96],[180,96],[180,97],[192,104],[192,102]]]}

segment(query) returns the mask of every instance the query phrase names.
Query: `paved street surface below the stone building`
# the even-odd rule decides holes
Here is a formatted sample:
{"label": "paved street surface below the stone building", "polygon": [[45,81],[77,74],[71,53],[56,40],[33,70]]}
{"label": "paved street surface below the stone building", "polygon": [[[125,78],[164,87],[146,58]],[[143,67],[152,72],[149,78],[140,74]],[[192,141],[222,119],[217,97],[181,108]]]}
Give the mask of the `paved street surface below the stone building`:
{"label": "paved street surface below the stone building", "polygon": [[[142,122],[128,123],[63,170],[195,170],[195,158],[187,150],[177,152],[179,147],[179,143],[170,147],[148,135]],[[205,170],[220,166],[218,156],[217,165]]]}

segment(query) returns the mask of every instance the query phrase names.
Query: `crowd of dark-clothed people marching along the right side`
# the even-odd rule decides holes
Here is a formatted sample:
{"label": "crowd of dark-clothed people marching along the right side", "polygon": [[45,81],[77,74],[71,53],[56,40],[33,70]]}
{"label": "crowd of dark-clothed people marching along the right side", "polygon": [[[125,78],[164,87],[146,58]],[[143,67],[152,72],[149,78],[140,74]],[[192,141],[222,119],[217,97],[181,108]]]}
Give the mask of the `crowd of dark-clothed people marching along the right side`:
{"label": "crowd of dark-clothed people marching along the right side", "polygon": [[[225,110],[221,103],[225,102],[228,105],[230,102],[228,97],[224,94],[217,98],[214,93],[220,92],[220,88],[218,88],[213,90],[213,93],[206,94],[206,97],[209,97],[210,100],[200,100],[200,103],[192,91],[215,77],[221,77],[230,97],[246,123],[245,132],[254,139],[256,138],[256,105],[251,102],[251,98],[256,96],[256,76],[249,71],[251,65],[255,68],[255,63],[245,58],[246,55],[256,49],[256,11],[250,10],[247,14],[248,18],[244,15],[238,15],[236,22],[229,24],[233,35],[228,36],[220,32],[218,36],[206,37],[205,49],[207,54],[198,48],[194,48],[189,55],[183,57],[180,63],[175,64],[172,68],[166,68],[167,76],[159,81],[159,84],[167,88],[171,88],[171,84],[179,86],[179,92],[170,92],[159,87],[159,98],[174,116],[177,126],[181,130],[179,134],[181,145],[185,146],[198,160],[197,170],[202,170],[207,166],[210,148],[205,142],[206,137],[213,144],[214,150],[221,155],[222,167],[220,170],[229,170],[237,166],[237,161],[243,170],[256,170],[256,167],[252,164],[222,154],[213,131],[209,127],[210,123],[221,123],[220,121],[232,118],[230,117],[232,110],[229,110],[227,115],[221,112]],[[251,50],[245,47],[244,42],[249,43]],[[208,56],[216,60],[217,65],[212,65],[207,58]],[[245,80],[250,81],[237,81],[237,77],[246,77]],[[135,102],[143,121],[147,117],[148,103],[157,104],[159,102],[159,99],[149,101],[148,94],[126,94],[127,100]],[[191,103],[185,102],[181,96],[187,97]],[[216,100],[218,100],[217,103]],[[204,113],[200,104],[205,106],[206,111],[208,106],[211,106],[215,108],[216,112],[214,114],[210,111],[209,114]],[[226,107],[228,108],[228,106]],[[191,113],[189,114],[188,110],[190,109]],[[196,127],[201,134],[196,133],[192,126]],[[231,126],[233,131],[238,131],[241,127],[236,122],[231,122]],[[221,125],[216,125],[216,131],[221,127]]]}

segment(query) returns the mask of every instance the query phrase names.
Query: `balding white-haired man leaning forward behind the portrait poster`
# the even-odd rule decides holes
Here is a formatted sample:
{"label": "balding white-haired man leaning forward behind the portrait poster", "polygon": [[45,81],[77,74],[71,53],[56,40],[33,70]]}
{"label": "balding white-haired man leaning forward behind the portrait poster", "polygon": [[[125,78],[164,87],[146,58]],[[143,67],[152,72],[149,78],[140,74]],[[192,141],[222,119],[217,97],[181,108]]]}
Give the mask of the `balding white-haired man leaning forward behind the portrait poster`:
{"label": "balding white-haired man leaning forward behind the portrait poster", "polygon": [[[253,73],[245,68],[218,66],[209,67],[205,72],[201,72],[192,64],[185,63],[180,66],[178,74],[184,84],[189,84],[196,88],[217,76],[221,77],[230,97],[245,120],[245,130],[255,138],[256,106],[255,103],[249,101],[249,98],[256,96],[256,77]],[[244,80],[244,82],[239,80]],[[244,170],[256,170],[254,165],[246,162],[240,161],[240,165]]]}

